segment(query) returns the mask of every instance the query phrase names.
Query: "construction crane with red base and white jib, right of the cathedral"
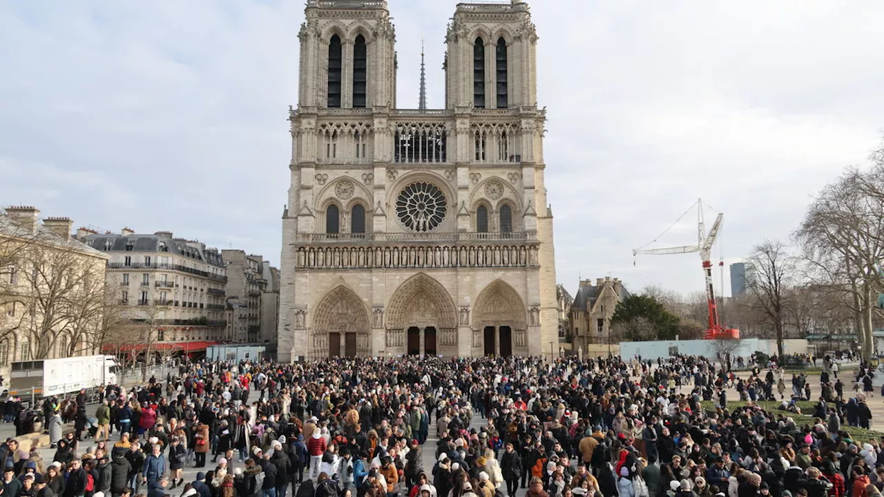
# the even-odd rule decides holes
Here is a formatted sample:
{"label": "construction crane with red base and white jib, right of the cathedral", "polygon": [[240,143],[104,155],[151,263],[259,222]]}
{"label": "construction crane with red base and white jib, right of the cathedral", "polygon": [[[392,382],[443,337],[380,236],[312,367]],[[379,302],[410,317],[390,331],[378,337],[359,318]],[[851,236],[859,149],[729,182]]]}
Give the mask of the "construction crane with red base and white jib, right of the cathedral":
{"label": "construction crane with red base and white jib, right of the cathedral", "polygon": [[[687,215],[688,212],[693,210],[695,206],[697,207],[697,245],[684,245],[682,247],[667,248],[644,248],[648,245],[651,245],[654,241],[657,241],[660,236],[663,236],[663,234],[667,233],[667,231],[669,231],[672,226],[678,223],[678,221],[682,220],[682,218],[684,218],[684,216]],[[706,302],[709,306],[709,327],[704,333],[704,338],[706,340],[740,338],[740,330],[725,328],[723,325],[721,325],[718,313],[718,304],[715,302],[715,290],[713,287],[712,248],[713,244],[715,243],[715,239],[718,238],[719,230],[721,229],[721,221],[723,219],[724,214],[719,213],[718,217],[715,218],[715,222],[713,223],[712,228],[710,228],[709,233],[705,233],[703,201],[697,200],[697,203],[692,205],[689,210],[685,211],[685,213],[682,214],[681,218],[678,218],[678,220],[670,225],[666,229],[666,231],[660,233],[657,239],[649,243],[645,243],[642,247],[636,248],[632,251],[632,256],[664,256],[669,254],[690,254],[693,252],[699,252],[700,258],[703,260],[703,273],[706,279]]]}

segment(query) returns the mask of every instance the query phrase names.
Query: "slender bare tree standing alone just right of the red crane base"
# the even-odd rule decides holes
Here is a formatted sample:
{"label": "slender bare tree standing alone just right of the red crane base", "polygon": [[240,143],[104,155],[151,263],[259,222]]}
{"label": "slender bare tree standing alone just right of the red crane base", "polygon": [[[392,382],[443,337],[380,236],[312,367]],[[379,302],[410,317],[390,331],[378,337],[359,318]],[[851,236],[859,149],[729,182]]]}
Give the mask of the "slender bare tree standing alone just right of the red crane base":
{"label": "slender bare tree standing alone just right of the red crane base", "polygon": [[782,356],[786,320],[793,305],[795,258],[781,241],[764,241],[752,250],[748,265],[752,272],[746,279],[746,288],[751,295],[751,305],[773,328],[777,355]]}

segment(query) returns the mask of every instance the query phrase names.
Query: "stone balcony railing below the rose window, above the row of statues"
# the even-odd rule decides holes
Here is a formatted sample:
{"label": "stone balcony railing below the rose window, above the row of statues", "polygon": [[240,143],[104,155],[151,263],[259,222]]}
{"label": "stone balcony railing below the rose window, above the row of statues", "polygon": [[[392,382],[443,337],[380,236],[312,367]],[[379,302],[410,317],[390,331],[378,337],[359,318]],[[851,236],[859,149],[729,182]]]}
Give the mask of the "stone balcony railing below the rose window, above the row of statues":
{"label": "stone balcony railing below the rose window, above the row of statues", "polygon": [[426,241],[537,241],[537,232],[512,233],[298,233],[301,243],[423,243]]}

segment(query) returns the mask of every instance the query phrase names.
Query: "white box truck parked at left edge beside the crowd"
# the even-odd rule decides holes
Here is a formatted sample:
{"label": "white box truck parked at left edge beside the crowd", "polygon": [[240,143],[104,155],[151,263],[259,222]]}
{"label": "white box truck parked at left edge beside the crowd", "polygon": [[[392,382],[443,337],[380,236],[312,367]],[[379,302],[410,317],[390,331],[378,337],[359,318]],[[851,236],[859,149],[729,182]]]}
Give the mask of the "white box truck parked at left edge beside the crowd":
{"label": "white box truck parked at left edge beside the crowd", "polygon": [[[118,364],[114,356],[79,356],[11,364],[8,388],[3,394],[44,397],[70,394],[81,388],[117,383]],[[5,386],[4,386],[5,387]]]}

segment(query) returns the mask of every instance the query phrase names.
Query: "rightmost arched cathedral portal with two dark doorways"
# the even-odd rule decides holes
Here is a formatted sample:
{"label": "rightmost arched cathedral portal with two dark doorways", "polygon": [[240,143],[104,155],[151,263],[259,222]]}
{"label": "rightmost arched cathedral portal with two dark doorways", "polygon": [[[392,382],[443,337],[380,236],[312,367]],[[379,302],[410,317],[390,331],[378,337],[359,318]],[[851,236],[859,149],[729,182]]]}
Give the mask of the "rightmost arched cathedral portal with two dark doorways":
{"label": "rightmost arched cathedral portal with two dark doorways", "polygon": [[476,298],[473,311],[473,347],[486,356],[522,356],[528,352],[528,319],[522,298],[500,279]]}

